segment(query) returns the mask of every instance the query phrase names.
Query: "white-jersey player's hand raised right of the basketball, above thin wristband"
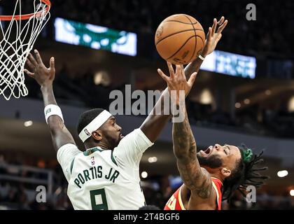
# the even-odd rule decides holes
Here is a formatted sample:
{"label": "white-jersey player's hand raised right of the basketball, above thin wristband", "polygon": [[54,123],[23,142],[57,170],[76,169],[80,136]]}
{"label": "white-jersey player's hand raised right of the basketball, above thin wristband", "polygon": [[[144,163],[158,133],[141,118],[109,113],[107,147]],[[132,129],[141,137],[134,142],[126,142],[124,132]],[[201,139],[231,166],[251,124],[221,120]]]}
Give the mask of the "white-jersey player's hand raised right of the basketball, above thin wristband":
{"label": "white-jersey player's hand raised right of the basketball, above thin wristband", "polygon": [[[212,27],[209,27],[209,31],[207,33],[207,40],[205,41],[204,48],[202,50],[202,56],[206,57],[211,52],[216,49],[216,45],[218,44],[218,41],[221,40],[221,32],[225,27],[228,25],[228,20],[225,20],[225,18],[222,16],[221,20],[217,22],[216,18],[214,18],[214,25]],[[218,31],[216,32],[216,27],[218,27]]]}

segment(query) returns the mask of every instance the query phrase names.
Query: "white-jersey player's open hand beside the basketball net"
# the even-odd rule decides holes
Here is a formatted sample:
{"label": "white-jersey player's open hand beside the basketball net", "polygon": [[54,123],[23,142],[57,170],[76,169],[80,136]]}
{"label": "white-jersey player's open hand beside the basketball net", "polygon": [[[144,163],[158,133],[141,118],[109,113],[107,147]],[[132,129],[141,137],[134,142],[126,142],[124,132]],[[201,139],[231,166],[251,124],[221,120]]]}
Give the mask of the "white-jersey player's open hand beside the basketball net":
{"label": "white-jersey player's open hand beside the basketball net", "polygon": [[50,67],[46,68],[42,62],[42,58],[38,50],[34,50],[34,52],[36,59],[33,55],[31,55],[31,53],[29,53],[29,56],[27,57],[27,66],[29,66],[29,69],[33,72],[25,69],[25,73],[27,73],[28,76],[31,76],[31,78],[34,78],[38,85],[41,85],[41,87],[52,85],[52,82],[55,78],[54,57],[50,58]]}

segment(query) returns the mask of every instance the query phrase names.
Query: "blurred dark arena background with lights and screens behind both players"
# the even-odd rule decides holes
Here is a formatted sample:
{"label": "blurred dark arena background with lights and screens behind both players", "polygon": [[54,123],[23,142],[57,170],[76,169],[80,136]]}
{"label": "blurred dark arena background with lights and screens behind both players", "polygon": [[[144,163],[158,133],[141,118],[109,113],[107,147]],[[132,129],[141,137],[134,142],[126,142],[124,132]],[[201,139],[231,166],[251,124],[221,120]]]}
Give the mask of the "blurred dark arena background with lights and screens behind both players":
{"label": "blurred dark arena background with lights and screens behind both players", "polygon": [[[0,2],[1,15],[12,12],[13,2]],[[31,0],[23,3],[29,12]],[[256,6],[255,21],[246,20],[248,3]],[[223,72],[202,69],[187,100],[197,146],[245,143],[257,151],[265,149],[266,174],[271,179],[258,190],[256,202],[248,203],[236,194],[230,204],[223,202],[223,209],[294,209],[293,10],[293,1],[52,0],[51,18],[35,48],[47,66],[50,57],[55,57],[55,97],[66,126],[83,148],[76,134],[78,116],[86,109],[108,108],[111,90],[124,91],[127,84],[132,90],[165,88],[157,69],[167,71],[167,66],[154,45],[155,30],[162,20],[186,13],[197,18],[207,32],[213,19],[224,15],[229,24],[216,50],[223,52],[220,63],[225,68]],[[85,36],[83,29],[76,34],[83,36],[78,45],[56,41],[62,29],[57,27],[58,18],[59,22],[126,31],[120,33],[123,35],[137,34],[137,43],[134,39],[130,43],[137,52],[111,52],[108,42],[102,40],[98,42],[104,50],[92,49],[90,34]],[[252,73],[246,69],[239,71],[225,52],[254,57],[255,78],[248,78]],[[236,76],[228,75],[235,71],[239,72]],[[25,83],[27,97],[9,101],[0,97],[0,209],[72,209],[43,118],[41,92],[35,80],[26,77]],[[144,118],[118,116],[117,120],[127,134]],[[172,125],[167,125],[141,160],[146,202],[161,209],[181,184],[171,130]],[[284,177],[277,175],[280,171]],[[46,186],[46,203],[36,202],[36,186],[40,185]]]}

